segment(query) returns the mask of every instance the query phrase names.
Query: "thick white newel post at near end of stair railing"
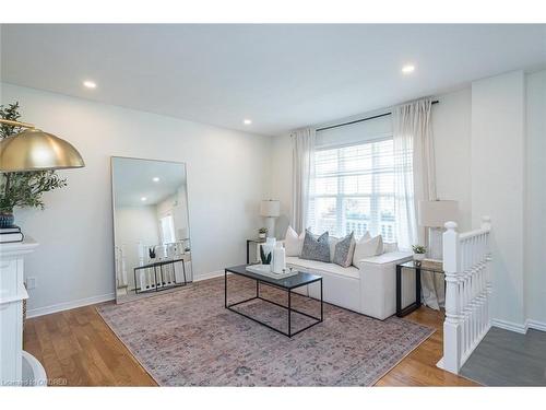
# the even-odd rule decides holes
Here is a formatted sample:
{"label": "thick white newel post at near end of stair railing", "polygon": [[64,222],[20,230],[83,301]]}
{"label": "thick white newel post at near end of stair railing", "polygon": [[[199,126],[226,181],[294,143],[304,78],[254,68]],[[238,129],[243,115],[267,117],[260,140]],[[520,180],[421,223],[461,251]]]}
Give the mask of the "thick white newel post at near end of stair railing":
{"label": "thick white newel post at near end of stair railing", "polygon": [[446,223],[443,233],[443,271],[446,273],[446,321],[443,323],[442,367],[459,373],[461,363],[460,242],[455,222]]}

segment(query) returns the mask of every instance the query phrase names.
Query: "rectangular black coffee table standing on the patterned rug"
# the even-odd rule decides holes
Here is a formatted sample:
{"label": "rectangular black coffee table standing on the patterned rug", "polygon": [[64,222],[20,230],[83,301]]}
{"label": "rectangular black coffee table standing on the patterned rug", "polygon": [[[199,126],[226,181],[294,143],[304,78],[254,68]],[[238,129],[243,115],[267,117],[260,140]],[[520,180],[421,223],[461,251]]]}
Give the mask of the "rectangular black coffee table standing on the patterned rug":
{"label": "rectangular black coffee table standing on the patterned rug", "polygon": [[[292,338],[293,336],[295,336],[304,330],[309,329],[310,327],[312,327],[314,325],[322,323],[322,319],[323,319],[323,300],[322,300],[322,278],[321,277],[319,277],[317,274],[299,271],[297,274],[294,274],[294,276],[285,278],[285,279],[274,279],[274,278],[270,278],[270,277],[266,277],[263,274],[249,272],[247,270],[247,266],[249,266],[249,265],[239,265],[236,267],[226,268],[224,271],[224,306],[226,309],[229,309],[229,311],[235,312],[241,316],[245,316],[248,319],[251,319],[256,323],[259,323],[260,325],[263,325],[263,326],[270,328],[271,330],[275,330],[275,331],[277,331],[284,336],[287,336],[289,338]],[[248,279],[256,280],[256,296],[246,298],[246,300],[240,301],[240,302],[227,304],[227,274],[228,273],[238,274],[238,276],[241,276],[241,277],[245,277]],[[310,283],[314,283],[314,282],[320,282],[320,317],[311,316],[305,312],[297,311],[294,307],[292,307],[292,293],[293,293],[293,291],[296,288],[305,286],[306,284],[310,284]],[[280,303],[276,303],[276,302],[273,302],[273,301],[270,301],[270,300],[262,297],[260,295],[260,283],[287,291],[287,293],[288,293],[288,306],[284,306],[284,305],[281,305]],[[301,295],[301,297],[306,297],[306,296]],[[237,305],[240,305],[242,303],[247,303],[247,302],[250,302],[253,300],[261,300],[261,301],[264,301],[264,302],[268,302],[268,303],[271,303],[273,305],[276,305],[276,306],[280,306],[280,307],[287,309],[288,311],[288,316],[287,316],[288,317],[288,331],[285,332],[281,329],[274,328],[273,326],[270,326],[266,323],[263,323],[254,317],[251,317],[247,314],[244,314],[242,312],[239,312],[239,311],[236,311],[233,308],[234,306],[237,306]],[[292,331],[292,313],[293,312],[313,319],[313,323],[304,327],[302,329],[298,329],[297,331],[293,332]]]}

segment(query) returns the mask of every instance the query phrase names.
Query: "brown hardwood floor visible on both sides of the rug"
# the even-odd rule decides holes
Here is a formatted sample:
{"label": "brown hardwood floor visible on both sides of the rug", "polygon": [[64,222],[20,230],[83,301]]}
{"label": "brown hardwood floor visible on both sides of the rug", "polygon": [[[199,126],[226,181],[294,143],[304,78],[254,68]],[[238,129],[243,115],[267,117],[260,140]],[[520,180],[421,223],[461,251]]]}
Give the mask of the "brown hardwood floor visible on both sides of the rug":
{"label": "brown hardwood floor visible on both sides of the rug", "polygon": [[[156,386],[95,309],[96,305],[32,318],[24,349],[44,365],[51,385]],[[436,367],[442,355],[442,314],[422,307],[405,317],[437,329],[376,386],[472,386]]]}

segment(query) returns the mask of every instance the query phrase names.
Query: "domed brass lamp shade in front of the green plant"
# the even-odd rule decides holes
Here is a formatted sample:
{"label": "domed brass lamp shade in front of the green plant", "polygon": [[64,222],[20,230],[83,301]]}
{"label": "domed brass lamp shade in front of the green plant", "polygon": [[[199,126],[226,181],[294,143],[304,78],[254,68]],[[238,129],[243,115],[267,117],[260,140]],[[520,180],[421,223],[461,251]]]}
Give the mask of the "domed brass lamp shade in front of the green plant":
{"label": "domed brass lamp shade in front of the green plant", "polygon": [[70,142],[39,129],[26,129],[0,141],[0,171],[4,173],[83,166],[82,155]]}

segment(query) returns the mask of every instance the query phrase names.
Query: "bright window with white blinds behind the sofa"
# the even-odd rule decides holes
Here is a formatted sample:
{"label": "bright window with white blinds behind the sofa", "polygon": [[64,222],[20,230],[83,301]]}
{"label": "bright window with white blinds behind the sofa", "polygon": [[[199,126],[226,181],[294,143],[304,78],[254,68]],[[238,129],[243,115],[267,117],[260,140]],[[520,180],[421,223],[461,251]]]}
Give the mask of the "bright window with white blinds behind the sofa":
{"label": "bright window with white blinds behind the sofa", "polygon": [[318,150],[308,224],[333,236],[366,231],[395,242],[392,139]]}

